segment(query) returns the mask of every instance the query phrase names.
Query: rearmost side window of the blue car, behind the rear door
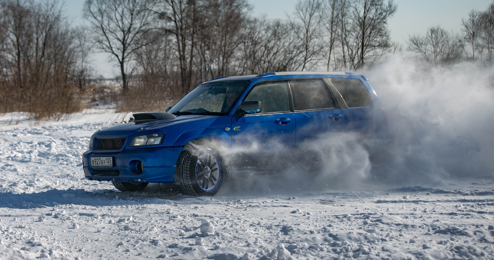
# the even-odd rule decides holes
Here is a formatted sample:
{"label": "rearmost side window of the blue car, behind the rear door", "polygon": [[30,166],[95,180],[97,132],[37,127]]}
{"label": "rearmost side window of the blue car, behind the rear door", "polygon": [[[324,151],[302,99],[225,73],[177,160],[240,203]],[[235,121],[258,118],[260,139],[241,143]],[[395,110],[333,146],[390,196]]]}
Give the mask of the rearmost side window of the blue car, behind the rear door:
{"label": "rearmost side window of the blue car, behind the rear door", "polygon": [[370,107],[372,98],[367,88],[358,79],[331,79],[348,107]]}

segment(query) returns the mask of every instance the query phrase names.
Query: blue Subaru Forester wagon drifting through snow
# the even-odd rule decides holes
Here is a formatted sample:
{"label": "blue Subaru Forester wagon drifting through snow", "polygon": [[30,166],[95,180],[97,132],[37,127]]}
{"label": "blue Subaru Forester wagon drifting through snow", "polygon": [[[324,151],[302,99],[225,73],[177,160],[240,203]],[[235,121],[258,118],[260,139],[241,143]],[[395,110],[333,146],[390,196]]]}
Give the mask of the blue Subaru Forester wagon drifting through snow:
{"label": "blue Subaru Forester wagon drifting through snow", "polygon": [[386,129],[384,109],[364,76],[277,72],[218,78],[166,113],[134,114],[131,123],[96,131],[83,169],[87,179],[112,181],[121,191],[178,181],[185,194],[212,196],[227,174],[283,164],[273,154],[301,151],[322,134],[377,138]]}

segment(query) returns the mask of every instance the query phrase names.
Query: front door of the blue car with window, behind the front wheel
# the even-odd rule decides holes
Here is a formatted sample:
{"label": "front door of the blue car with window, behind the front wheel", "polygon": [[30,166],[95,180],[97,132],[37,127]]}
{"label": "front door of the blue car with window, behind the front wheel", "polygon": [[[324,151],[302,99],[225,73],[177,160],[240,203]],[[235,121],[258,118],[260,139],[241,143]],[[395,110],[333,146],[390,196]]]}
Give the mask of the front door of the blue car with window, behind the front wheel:
{"label": "front door of the blue car with window, behind the front wheel", "polygon": [[295,118],[290,111],[287,81],[261,82],[244,101],[260,101],[261,112],[232,118],[232,142],[237,154],[231,164],[236,168],[265,167],[283,161],[284,151],[295,145]]}

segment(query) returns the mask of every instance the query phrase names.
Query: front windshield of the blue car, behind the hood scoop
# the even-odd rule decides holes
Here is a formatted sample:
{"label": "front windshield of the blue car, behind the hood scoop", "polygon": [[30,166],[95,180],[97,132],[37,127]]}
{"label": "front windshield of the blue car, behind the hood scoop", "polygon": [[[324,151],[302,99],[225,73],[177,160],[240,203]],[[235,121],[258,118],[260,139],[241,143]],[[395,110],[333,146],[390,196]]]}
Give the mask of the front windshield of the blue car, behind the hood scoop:
{"label": "front windshield of the blue car, behind the hood scoop", "polygon": [[226,115],[247,87],[248,81],[201,84],[168,110],[179,115]]}

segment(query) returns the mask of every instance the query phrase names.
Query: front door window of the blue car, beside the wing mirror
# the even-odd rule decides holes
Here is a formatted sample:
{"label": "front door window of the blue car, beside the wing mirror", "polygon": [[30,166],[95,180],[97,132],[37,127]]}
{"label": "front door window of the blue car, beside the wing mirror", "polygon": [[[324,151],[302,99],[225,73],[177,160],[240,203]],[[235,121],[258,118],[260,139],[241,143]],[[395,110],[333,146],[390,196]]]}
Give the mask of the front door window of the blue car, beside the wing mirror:
{"label": "front door window of the blue car, beside the wing mirror", "polygon": [[261,113],[286,112],[290,110],[286,82],[268,82],[254,86],[245,101],[261,101]]}

